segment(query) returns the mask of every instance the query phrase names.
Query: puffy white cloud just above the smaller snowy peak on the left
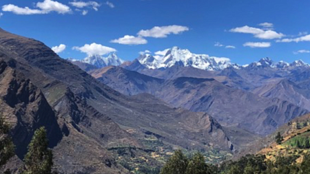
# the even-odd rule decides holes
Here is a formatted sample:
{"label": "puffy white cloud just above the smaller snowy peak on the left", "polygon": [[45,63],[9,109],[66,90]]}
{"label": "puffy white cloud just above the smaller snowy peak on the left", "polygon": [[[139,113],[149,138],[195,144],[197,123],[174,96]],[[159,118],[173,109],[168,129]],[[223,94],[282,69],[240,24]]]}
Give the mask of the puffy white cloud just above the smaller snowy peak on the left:
{"label": "puffy white cloud just above the smaller snowy peak on the left", "polygon": [[92,44],[85,44],[83,47],[72,47],[73,50],[78,50],[80,52],[84,52],[87,56],[92,55],[104,55],[109,54],[110,52],[116,52],[116,50],[112,47],[106,47],[101,44],[92,43]]}

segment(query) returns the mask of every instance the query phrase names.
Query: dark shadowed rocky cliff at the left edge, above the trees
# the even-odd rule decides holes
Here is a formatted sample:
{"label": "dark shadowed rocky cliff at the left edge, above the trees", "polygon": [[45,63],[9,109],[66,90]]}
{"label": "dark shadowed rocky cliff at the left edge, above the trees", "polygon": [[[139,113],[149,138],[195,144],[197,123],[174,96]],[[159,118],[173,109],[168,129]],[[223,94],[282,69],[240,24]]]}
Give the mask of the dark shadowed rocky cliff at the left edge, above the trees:
{"label": "dark shadowed rocky cliff at the left edge, above the trees", "polygon": [[0,61],[0,105],[1,114],[11,120],[16,154],[23,157],[27,152],[34,130],[41,126],[48,129],[50,147],[62,139],[56,114],[40,89],[34,86],[23,74],[14,70],[13,60]]}

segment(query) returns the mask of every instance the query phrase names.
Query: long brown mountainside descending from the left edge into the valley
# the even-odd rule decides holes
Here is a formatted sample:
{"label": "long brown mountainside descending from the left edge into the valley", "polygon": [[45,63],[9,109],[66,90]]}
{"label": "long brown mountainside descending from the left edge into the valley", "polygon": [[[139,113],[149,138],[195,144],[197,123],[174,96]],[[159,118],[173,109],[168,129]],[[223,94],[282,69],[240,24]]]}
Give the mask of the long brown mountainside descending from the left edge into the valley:
{"label": "long brown mountainside descending from the left edge into the valley", "polygon": [[34,39],[0,30],[0,45],[0,104],[16,145],[8,164],[14,171],[41,126],[59,173],[130,173],[118,161],[124,148],[131,158],[147,158],[149,167],[163,165],[152,155],[169,157],[179,148],[216,155],[223,153],[214,149],[240,149],[243,135],[230,139],[234,130],[207,113],[172,107],[149,94],[125,96]]}

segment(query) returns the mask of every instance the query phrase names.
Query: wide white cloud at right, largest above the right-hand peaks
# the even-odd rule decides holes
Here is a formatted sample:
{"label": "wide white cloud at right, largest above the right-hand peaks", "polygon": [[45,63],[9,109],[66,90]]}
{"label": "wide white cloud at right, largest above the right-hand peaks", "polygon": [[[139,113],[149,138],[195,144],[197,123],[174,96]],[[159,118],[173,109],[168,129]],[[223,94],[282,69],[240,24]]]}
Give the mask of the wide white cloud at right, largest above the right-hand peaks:
{"label": "wide white cloud at right, largest above the right-hand peaks", "polygon": [[275,32],[273,30],[262,30],[260,28],[252,28],[247,25],[240,28],[232,28],[229,32],[238,32],[253,34],[258,39],[281,39],[285,34]]}

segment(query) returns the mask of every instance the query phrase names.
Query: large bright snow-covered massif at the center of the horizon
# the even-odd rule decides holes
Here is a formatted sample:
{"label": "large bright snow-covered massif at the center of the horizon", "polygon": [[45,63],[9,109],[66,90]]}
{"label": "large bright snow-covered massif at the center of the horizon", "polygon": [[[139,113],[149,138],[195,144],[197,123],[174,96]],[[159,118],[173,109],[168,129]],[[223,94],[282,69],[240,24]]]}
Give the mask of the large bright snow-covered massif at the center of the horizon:
{"label": "large bright snow-covered massif at the center of the horizon", "polygon": [[193,54],[189,50],[181,50],[179,47],[172,47],[167,50],[164,56],[141,55],[138,61],[149,69],[172,67],[176,64],[209,71],[222,70],[227,67],[240,68],[239,65],[232,64],[229,58],[209,56],[207,54]]}

